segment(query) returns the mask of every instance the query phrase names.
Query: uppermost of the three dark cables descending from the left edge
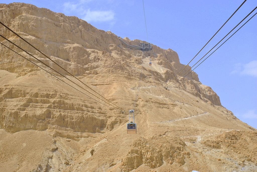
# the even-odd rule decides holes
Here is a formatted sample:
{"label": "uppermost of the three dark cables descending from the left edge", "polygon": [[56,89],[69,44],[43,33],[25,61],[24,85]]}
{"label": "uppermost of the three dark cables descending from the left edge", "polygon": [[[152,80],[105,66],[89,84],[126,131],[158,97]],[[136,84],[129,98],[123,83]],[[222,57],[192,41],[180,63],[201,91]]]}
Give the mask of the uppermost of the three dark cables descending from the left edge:
{"label": "uppermost of the three dark cables descending from the left edge", "polygon": [[[16,36],[18,36],[19,38],[21,38],[23,41],[25,41],[26,43],[28,43],[30,46],[32,46],[34,49],[36,49],[38,52],[40,52],[43,56],[45,56],[46,58],[48,58],[49,60],[51,60],[54,64],[56,64],[57,66],[59,66],[61,69],[65,70],[69,75],[71,75],[72,77],[74,77],[75,79],[77,79],[79,82],[81,82],[82,84],[84,84],[85,86],[87,86],[89,89],[91,89],[92,91],[94,91],[96,94],[98,94],[99,96],[103,97],[104,99],[106,99],[104,96],[100,95],[99,93],[97,93],[94,89],[90,88],[88,85],[86,85],[84,82],[82,82],[80,79],[78,79],[77,77],[75,77],[74,75],[72,75],[70,72],[68,72],[66,69],[64,69],[63,67],[61,67],[59,64],[57,64],[55,61],[53,61],[50,57],[48,57],[47,55],[45,55],[43,52],[41,52],[39,49],[37,49],[36,47],[34,47],[31,43],[29,43],[28,41],[26,41],[25,39],[23,39],[19,34],[17,34],[16,32],[14,32],[12,29],[10,29],[8,26],[6,26],[4,23],[2,23],[0,21],[0,24],[2,24],[5,28],[7,28],[8,30],[10,30],[12,33],[14,33]],[[92,94],[92,93],[91,93]],[[95,96],[95,95],[94,95]],[[97,97],[97,96],[96,96]],[[109,101],[108,99],[106,99],[107,101]],[[110,103],[112,103],[111,101],[109,101]],[[114,104],[114,103],[112,103]],[[117,106],[116,104],[114,104],[115,106]],[[117,106],[118,108],[121,109],[122,108]]]}

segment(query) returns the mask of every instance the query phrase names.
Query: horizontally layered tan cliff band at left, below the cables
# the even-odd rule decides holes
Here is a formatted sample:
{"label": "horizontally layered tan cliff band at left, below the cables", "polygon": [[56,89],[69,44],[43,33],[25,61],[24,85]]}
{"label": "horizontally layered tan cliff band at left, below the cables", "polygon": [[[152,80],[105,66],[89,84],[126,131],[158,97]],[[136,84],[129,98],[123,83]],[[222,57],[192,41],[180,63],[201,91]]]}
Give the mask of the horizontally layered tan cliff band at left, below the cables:
{"label": "horizontally layered tan cliff band at left, below the cables", "polygon": [[[46,130],[58,126],[75,132],[99,132],[105,128],[105,112],[84,103],[72,102],[51,90],[26,92],[23,89],[5,87],[1,96],[15,99],[8,105],[2,103],[0,126],[9,132],[22,130]],[[70,97],[71,98],[71,97]],[[10,102],[9,102],[10,103]],[[95,114],[99,114],[97,117]]]}

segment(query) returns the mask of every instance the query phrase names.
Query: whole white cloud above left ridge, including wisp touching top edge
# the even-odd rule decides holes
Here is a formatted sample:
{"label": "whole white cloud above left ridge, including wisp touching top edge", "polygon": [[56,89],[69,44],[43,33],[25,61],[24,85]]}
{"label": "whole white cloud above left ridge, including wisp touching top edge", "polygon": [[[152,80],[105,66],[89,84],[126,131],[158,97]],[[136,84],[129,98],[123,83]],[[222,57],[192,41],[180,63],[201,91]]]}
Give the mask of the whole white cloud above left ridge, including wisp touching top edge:
{"label": "whole white cloud above left ridge, including wisp touching top edge", "polygon": [[85,4],[92,0],[80,0],[79,2],[63,3],[65,13],[77,12],[82,16],[82,19],[87,22],[105,22],[113,21],[115,13],[111,10],[90,10],[85,8]]}

